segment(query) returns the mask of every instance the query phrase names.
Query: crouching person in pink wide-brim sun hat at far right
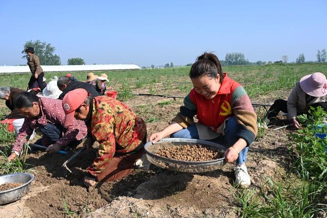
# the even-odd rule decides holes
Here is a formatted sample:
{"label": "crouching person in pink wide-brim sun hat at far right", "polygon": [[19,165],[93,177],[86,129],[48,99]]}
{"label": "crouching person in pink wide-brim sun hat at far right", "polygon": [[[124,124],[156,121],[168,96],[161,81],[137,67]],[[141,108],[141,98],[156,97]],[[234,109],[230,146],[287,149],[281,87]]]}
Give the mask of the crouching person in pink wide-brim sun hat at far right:
{"label": "crouching person in pink wide-brim sun hat at far right", "polygon": [[327,80],[321,72],[304,76],[295,84],[288,101],[278,99],[267,112],[267,118],[276,117],[279,111],[288,114],[295,128],[300,128],[296,120],[299,114],[307,113],[309,107],[322,107],[327,111]]}

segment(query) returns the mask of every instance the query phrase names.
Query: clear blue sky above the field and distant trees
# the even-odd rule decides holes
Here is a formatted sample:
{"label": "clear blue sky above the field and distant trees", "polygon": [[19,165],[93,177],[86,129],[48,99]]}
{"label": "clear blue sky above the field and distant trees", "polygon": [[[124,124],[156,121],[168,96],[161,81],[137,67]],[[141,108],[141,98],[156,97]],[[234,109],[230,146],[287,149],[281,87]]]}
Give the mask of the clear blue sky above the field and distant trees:
{"label": "clear blue sky above the field and distant trees", "polygon": [[66,64],[192,63],[204,51],[223,60],[316,60],[327,49],[326,1],[0,1],[0,65],[24,64],[22,45],[41,40]]}

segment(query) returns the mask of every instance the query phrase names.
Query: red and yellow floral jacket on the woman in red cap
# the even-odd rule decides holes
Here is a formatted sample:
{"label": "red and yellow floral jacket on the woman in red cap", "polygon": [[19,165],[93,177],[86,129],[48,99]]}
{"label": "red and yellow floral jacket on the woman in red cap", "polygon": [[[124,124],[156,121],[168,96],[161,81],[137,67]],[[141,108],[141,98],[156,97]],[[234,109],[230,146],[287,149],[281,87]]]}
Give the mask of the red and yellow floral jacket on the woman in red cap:
{"label": "red and yellow floral jacket on the woman in red cap", "polygon": [[128,153],[138,149],[146,137],[146,124],[125,104],[108,96],[93,99],[91,122],[92,137],[100,143],[97,158],[88,172],[97,176],[115,153]]}

